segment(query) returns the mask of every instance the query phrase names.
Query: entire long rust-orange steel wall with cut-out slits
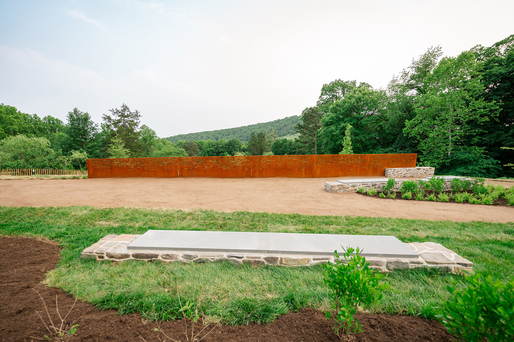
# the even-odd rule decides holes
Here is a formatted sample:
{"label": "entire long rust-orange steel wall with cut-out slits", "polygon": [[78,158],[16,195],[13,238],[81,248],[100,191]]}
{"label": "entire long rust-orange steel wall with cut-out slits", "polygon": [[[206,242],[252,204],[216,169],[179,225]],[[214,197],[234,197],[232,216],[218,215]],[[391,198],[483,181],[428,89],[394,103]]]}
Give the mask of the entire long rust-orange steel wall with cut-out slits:
{"label": "entire long rust-orange steel wall with cut-out slits", "polygon": [[384,176],[386,167],[415,167],[416,154],[296,155],[87,159],[89,178],[322,178]]}

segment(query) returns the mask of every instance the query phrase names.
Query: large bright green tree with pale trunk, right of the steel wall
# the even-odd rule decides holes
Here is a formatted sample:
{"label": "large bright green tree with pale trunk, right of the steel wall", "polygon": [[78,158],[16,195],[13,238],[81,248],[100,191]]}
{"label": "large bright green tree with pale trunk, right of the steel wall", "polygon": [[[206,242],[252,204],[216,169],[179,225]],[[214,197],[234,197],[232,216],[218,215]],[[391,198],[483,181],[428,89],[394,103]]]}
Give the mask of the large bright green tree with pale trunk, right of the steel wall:
{"label": "large bright green tree with pale trunk, right of the steel wall", "polygon": [[[419,140],[423,152],[421,162],[441,167],[457,151],[469,151],[480,156],[482,148],[475,142],[482,131],[473,123],[488,121],[498,106],[481,97],[482,63],[475,63],[474,54],[465,51],[457,58],[445,57],[424,79],[424,93],[415,106],[415,117],[406,123],[404,132]],[[473,163],[475,163],[473,161]]]}

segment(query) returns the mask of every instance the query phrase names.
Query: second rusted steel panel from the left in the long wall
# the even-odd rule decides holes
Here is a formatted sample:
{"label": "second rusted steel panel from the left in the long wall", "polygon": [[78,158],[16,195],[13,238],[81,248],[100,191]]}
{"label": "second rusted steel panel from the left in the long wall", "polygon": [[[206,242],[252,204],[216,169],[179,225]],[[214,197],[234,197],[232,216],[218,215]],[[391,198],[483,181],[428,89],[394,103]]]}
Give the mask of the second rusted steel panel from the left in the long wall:
{"label": "second rusted steel panel from the left in the long wall", "polygon": [[179,157],[179,177],[250,178],[252,157]]}

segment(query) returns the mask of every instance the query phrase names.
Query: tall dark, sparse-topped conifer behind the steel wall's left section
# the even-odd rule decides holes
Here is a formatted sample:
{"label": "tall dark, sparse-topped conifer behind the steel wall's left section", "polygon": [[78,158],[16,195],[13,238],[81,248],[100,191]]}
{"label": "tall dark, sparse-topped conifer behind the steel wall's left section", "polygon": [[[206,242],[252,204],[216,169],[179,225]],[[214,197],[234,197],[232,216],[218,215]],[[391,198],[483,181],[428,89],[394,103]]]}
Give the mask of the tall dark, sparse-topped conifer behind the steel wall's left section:
{"label": "tall dark, sparse-topped conifer behind the steel wall's left section", "polygon": [[116,134],[123,141],[125,147],[130,150],[131,157],[144,155],[138,131],[141,121],[139,111],[131,111],[126,104],[123,104],[120,109],[114,108],[109,111],[111,115],[102,116],[105,130],[111,132],[111,137]]}

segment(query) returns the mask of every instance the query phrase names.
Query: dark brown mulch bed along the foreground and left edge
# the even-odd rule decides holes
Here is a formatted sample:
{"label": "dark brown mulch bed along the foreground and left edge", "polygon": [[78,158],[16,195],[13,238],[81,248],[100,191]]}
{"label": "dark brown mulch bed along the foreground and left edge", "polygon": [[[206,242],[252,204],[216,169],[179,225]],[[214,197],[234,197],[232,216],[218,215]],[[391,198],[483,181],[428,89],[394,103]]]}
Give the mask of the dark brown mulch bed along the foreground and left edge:
{"label": "dark brown mulch bed along the foreground and left edge", "polygon": [[[41,284],[45,273],[59,260],[59,246],[53,242],[31,238],[0,237],[0,341],[37,341],[50,335],[41,318],[49,322],[43,306],[45,300],[52,321],[60,325],[56,311],[64,317],[74,305],[74,297],[61,289]],[[36,292],[36,291],[38,292]],[[435,320],[412,316],[358,314],[364,332],[354,341],[452,341],[452,336]],[[201,320],[201,319],[200,319]],[[146,321],[138,314],[119,316],[115,310],[96,311],[77,301],[66,323],[79,324],[72,341],[170,341],[162,332],[154,331],[157,322]],[[175,340],[186,341],[183,320],[161,322],[160,329]],[[212,325],[208,327],[210,330]],[[203,328],[201,325],[196,329]],[[198,330],[197,330],[198,331]],[[189,331],[190,332],[190,331]],[[30,337],[33,336],[33,337]],[[51,336],[51,335],[50,335]],[[198,339],[203,336],[200,335]],[[51,336],[54,340],[55,336]],[[57,340],[57,339],[55,339]],[[279,317],[269,325],[217,326],[203,341],[339,341],[333,324],[322,312],[305,308]]]}

